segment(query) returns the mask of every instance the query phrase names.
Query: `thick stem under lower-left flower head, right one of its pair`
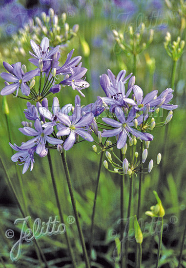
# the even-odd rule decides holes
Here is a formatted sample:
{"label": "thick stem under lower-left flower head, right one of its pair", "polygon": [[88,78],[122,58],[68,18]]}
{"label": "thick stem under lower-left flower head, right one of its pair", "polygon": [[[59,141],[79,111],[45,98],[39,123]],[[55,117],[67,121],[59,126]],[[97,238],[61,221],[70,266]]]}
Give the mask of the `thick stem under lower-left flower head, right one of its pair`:
{"label": "thick stem under lower-left flower head, right one of its pair", "polygon": [[62,164],[63,164],[63,167],[64,167],[64,172],[65,172],[66,181],[67,181],[67,185],[68,185],[68,190],[69,190],[69,193],[70,193],[72,207],[73,207],[74,215],[75,215],[75,219],[76,219],[76,224],[77,224],[77,228],[78,228],[78,232],[79,232],[79,236],[80,236],[80,240],[81,240],[81,244],[82,244],[84,261],[85,261],[85,264],[86,264],[86,268],[90,268],[90,263],[89,263],[89,260],[88,260],[88,255],[87,255],[85,242],[84,242],[84,237],[83,237],[83,231],[82,231],[82,228],[81,228],[81,225],[80,225],[80,219],[79,219],[78,210],[77,210],[77,207],[76,207],[76,200],[75,200],[73,189],[72,189],[70,173],[69,173],[69,170],[68,170],[68,165],[67,165],[67,162],[66,162],[66,157],[65,157],[64,150],[63,150],[61,155],[62,155]]}

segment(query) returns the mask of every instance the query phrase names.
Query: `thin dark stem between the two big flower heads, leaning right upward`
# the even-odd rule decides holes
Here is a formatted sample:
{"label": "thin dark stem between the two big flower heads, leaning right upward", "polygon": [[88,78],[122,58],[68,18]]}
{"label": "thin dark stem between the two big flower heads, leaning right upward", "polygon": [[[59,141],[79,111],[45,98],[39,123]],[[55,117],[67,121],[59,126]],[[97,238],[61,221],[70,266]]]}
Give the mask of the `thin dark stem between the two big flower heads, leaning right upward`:
{"label": "thin dark stem between the two big flower heads, leaning right upward", "polygon": [[97,179],[96,179],[96,191],[94,195],[94,205],[93,205],[93,210],[92,210],[92,216],[91,216],[91,228],[90,228],[90,258],[91,258],[91,250],[92,250],[92,245],[93,245],[93,236],[94,236],[94,217],[95,217],[95,211],[96,211],[96,200],[97,200],[97,195],[98,195],[98,186],[99,186],[99,181],[100,181],[100,173],[102,169],[102,160],[103,160],[103,154],[104,152],[102,151],[101,156],[100,156],[100,162],[99,162],[99,167],[98,167],[98,174],[97,174]]}

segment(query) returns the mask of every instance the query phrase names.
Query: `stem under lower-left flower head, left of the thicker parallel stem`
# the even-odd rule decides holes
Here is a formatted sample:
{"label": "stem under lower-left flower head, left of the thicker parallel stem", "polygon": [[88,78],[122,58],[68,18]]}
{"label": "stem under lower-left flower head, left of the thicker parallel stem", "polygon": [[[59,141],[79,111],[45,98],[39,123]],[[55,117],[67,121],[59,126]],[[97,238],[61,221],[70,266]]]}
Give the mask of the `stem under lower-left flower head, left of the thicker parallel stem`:
{"label": "stem under lower-left flower head, left of the thicker parallel stem", "polygon": [[[54,193],[55,193],[55,197],[56,197],[56,203],[57,203],[58,211],[59,211],[59,214],[60,214],[60,220],[61,220],[62,223],[64,223],[63,212],[62,212],[62,207],[61,207],[61,204],[60,204],[59,194],[58,194],[56,180],[55,180],[55,176],[54,176],[50,150],[48,150],[47,157],[48,157],[48,163],[49,163],[49,167],[50,167],[52,185],[53,185],[53,189],[54,189]],[[67,247],[68,247],[68,250],[69,250],[69,254],[70,254],[70,257],[71,257],[71,260],[72,260],[73,268],[76,268],[77,266],[76,266],[76,262],[75,262],[75,257],[74,257],[73,251],[71,249],[70,241],[69,241],[69,238],[68,238],[68,235],[67,235],[66,231],[64,232],[64,235],[65,235]]]}

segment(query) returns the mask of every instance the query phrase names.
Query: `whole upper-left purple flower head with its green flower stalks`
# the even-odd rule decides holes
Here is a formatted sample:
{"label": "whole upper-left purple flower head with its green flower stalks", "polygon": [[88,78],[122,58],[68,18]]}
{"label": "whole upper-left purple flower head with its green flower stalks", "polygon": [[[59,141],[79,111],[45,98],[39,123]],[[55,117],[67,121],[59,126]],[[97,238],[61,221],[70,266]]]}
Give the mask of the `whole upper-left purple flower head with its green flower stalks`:
{"label": "whole upper-left purple flower head with its green flower stalks", "polygon": [[[65,63],[62,67],[59,66],[60,46],[49,49],[49,39],[43,38],[41,44],[36,44],[33,40],[30,41],[33,52],[29,52],[33,58],[29,61],[37,68],[35,70],[25,72],[26,67],[21,67],[21,62],[15,64],[8,64],[3,62],[3,66],[8,73],[1,73],[1,77],[5,80],[5,87],[1,90],[2,96],[14,94],[18,96],[19,89],[21,93],[28,96],[31,100],[42,100],[49,93],[58,93],[61,90],[61,85],[71,86],[73,90],[77,90],[82,96],[82,89],[89,87],[89,83],[85,81],[86,68],[82,67],[80,62],[81,57],[72,57],[74,49],[67,55]],[[47,82],[44,83],[43,88],[36,88],[32,80],[35,76],[47,77]],[[64,78],[59,82],[58,75],[63,75]],[[9,84],[9,82],[11,84]],[[41,81],[40,81],[41,85]]]}

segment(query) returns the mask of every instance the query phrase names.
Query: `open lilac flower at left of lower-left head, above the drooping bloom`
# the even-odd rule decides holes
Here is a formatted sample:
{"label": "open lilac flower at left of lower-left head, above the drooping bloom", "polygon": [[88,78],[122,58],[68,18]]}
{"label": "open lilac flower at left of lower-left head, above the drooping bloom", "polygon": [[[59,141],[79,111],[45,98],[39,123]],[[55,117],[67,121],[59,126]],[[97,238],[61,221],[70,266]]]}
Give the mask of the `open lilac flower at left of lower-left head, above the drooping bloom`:
{"label": "open lilac flower at left of lower-left head, above the drooping bloom", "polygon": [[36,119],[34,123],[34,127],[35,127],[35,130],[30,127],[19,128],[22,134],[27,135],[27,136],[34,136],[33,139],[22,143],[21,149],[29,149],[37,145],[36,153],[40,154],[43,152],[43,150],[45,150],[46,141],[53,145],[63,143],[61,139],[49,136],[54,131],[52,126],[47,126],[46,128],[43,129],[40,120]]}

